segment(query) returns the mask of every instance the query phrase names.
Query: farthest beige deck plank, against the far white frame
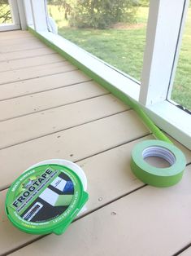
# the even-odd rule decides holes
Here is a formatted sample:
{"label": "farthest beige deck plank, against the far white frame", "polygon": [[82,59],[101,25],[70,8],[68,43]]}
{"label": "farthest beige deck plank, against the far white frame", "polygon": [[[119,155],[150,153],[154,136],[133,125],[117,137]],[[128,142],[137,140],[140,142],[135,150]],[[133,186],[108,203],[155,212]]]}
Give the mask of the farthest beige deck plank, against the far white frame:
{"label": "farthest beige deck plank, against the far white frame", "polygon": [[1,41],[7,39],[12,40],[15,38],[33,38],[33,34],[29,33],[28,31],[22,30],[5,31],[0,33]]}

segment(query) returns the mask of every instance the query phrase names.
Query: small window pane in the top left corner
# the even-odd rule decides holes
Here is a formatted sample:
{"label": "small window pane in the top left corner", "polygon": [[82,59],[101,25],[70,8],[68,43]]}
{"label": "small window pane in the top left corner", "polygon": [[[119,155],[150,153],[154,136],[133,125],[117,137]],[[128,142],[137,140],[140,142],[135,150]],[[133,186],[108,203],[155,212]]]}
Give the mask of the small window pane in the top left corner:
{"label": "small window pane in the top left corner", "polygon": [[12,23],[11,8],[8,0],[0,0],[0,24]]}

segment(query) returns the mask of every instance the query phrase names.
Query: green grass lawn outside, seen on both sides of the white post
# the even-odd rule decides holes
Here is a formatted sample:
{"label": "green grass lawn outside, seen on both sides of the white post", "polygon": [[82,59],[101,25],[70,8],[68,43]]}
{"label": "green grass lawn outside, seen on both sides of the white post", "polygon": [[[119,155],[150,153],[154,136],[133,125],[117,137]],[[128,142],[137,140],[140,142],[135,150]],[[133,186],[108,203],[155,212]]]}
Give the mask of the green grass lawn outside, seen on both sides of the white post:
{"label": "green grass lawn outside, seen on both sides of the white post", "polygon": [[[59,34],[63,38],[75,42],[131,77],[141,79],[147,7],[138,9],[137,24],[118,24],[113,29],[103,30],[70,28],[67,21],[63,20],[62,11],[58,11],[57,7],[50,7],[50,15],[59,25]],[[188,18],[171,98],[191,109],[191,8]]]}

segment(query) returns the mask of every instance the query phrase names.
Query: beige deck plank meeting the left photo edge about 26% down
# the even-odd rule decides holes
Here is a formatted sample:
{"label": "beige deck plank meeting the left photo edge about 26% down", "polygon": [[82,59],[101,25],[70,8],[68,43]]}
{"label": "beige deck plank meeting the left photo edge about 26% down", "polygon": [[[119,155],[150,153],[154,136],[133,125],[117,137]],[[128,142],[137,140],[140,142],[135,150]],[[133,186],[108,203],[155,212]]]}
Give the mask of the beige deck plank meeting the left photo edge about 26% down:
{"label": "beige deck plank meeting the left photo edge about 26% down", "polygon": [[63,57],[54,53],[51,55],[41,55],[41,56],[31,57],[28,59],[3,61],[0,64],[0,72],[20,69],[20,68],[28,68],[33,66],[40,66],[45,64],[53,64],[53,63],[61,62],[63,60],[64,60]]}

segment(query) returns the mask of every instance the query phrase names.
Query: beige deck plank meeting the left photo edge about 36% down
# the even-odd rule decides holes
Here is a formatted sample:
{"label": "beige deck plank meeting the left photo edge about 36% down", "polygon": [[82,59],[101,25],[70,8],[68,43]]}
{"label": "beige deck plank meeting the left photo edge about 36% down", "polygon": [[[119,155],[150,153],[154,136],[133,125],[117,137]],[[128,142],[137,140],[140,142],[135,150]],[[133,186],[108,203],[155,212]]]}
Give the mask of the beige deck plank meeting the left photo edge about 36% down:
{"label": "beige deck plank meeting the left photo edge about 36% down", "polygon": [[12,82],[0,86],[0,100],[30,95],[80,82],[87,82],[89,80],[91,79],[80,72],[80,70],[74,70],[68,73],[53,74],[51,76],[33,78],[22,82]]}

